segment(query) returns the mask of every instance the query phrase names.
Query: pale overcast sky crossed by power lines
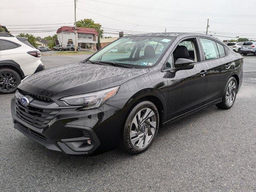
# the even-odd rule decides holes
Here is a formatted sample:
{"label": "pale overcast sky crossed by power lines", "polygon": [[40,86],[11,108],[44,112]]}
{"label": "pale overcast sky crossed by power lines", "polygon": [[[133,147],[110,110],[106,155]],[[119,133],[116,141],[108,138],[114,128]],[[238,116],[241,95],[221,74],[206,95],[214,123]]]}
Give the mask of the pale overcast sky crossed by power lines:
{"label": "pale overcast sky crossed by power lines", "polygon": [[[118,36],[121,30],[128,34],[165,28],[205,33],[209,18],[209,33],[221,40],[256,39],[255,10],[256,0],[79,0],[77,20],[91,18],[104,27],[105,36]],[[54,35],[60,26],[73,23],[74,0],[0,0],[0,24],[14,35]]]}

